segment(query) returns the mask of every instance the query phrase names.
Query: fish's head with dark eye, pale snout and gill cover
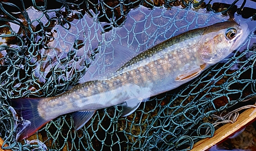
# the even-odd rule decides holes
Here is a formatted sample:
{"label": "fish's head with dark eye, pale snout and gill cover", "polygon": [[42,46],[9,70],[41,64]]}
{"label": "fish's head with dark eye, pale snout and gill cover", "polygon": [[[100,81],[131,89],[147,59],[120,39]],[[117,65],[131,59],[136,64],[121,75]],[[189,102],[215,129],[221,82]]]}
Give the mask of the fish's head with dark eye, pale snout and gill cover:
{"label": "fish's head with dark eye, pale snout and gill cover", "polygon": [[199,56],[205,63],[215,64],[236,50],[248,35],[246,23],[227,21],[211,25],[203,33]]}

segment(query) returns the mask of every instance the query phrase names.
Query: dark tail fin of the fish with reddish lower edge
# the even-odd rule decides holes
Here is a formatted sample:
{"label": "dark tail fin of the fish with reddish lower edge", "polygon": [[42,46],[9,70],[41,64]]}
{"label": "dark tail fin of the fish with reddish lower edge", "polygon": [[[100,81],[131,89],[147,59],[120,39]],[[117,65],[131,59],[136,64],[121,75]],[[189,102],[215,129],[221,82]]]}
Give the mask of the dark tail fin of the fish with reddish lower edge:
{"label": "dark tail fin of the fish with reddish lower edge", "polygon": [[[43,98],[18,98],[10,100],[11,106],[23,118],[17,125],[16,139],[18,141],[30,137],[49,122],[38,114],[37,105],[41,99]],[[28,121],[30,121],[30,125],[28,125]]]}

